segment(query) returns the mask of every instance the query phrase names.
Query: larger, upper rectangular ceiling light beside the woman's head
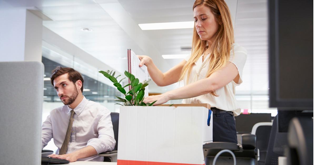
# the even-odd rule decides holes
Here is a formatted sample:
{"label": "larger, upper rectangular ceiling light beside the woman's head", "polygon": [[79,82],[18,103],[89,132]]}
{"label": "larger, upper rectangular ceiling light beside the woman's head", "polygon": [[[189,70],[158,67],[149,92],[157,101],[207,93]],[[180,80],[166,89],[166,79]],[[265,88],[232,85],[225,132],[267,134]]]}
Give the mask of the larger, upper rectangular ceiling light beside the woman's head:
{"label": "larger, upper rectangular ceiling light beside the woman's head", "polygon": [[164,22],[164,23],[143,23],[138,24],[142,30],[160,30],[160,29],[186,29],[193,28],[194,21],[186,22]]}

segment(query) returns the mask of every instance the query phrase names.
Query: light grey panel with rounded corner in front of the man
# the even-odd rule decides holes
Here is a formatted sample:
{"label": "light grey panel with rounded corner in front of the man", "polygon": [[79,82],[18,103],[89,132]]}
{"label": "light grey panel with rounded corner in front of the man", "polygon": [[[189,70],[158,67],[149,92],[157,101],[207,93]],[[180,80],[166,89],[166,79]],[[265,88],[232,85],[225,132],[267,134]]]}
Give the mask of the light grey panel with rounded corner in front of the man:
{"label": "light grey panel with rounded corner in front of the man", "polygon": [[0,165],[41,162],[41,62],[0,62]]}

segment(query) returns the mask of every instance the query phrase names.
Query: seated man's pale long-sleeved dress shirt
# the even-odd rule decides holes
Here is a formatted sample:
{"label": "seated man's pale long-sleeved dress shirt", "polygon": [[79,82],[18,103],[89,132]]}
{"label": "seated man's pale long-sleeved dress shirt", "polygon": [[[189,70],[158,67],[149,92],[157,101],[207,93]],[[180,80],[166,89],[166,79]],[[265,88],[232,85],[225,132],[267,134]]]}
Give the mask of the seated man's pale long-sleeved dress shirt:
{"label": "seated man's pale long-sleeved dress shirt", "polygon": [[[63,145],[72,109],[64,105],[50,112],[42,125],[42,149],[54,138],[59,153]],[[72,123],[71,138],[67,153],[72,153],[88,145],[94,147],[97,153],[111,151],[115,146],[113,126],[110,111],[93,101],[83,97],[79,105],[74,109],[74,121]],[[78,161],[100,161],[103,156],[91,156]]]}

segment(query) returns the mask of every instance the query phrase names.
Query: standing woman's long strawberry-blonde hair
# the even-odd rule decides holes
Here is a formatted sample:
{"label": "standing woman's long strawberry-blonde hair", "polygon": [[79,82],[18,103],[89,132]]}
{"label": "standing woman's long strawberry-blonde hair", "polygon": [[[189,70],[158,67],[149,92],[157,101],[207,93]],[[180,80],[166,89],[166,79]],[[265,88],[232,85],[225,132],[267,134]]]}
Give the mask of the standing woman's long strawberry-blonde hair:
{"label": "standing woman's long strawberry-blonde hair", "polygon": [[[232,44],[234,43],[234,30],[230,12],[224,0],[196,0],[193,4],[193,9],[198,5],[209,7],[215,16],[216,21],[222,22],[222,24],[219,25],[218,34],[213,43],[214,49],[212,50],[212,54],[209,59],[210,67],[208,68],[206,74],[206,77],[209,77],[211,74],[220,70],[227,64],[230,57],[230,50]],[[194,62],[199,59],[206,48],[207,41],[201,40],[197,34],[194,23],[191,57],[182,68],[179,80],[184,80],[184,77],[187,74],[187,81],[185,83],[189,83],[189,76],[192,67],[194,66]],[[218,96],[215,91],[212,91],[211,94]]]}

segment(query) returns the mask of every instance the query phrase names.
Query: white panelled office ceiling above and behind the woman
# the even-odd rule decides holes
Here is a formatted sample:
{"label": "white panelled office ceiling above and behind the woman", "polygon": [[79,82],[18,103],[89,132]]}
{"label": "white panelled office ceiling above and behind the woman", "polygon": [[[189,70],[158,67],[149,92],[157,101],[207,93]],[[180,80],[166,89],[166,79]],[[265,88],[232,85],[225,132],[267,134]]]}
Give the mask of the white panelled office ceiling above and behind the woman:
{"label": "white panelled office ceiling above and behind the woman", "polygon": [[[0,0],[0,8],[36,7],[52,21],[43,26],[91,56],[123,73],[127,49],[149,55],[162,71],[181,59],[163,59],[163,54],[185,54],[193,29],[142,31],[137,24],[193,21],[194,0]],[[243,84],[237,94],[267,94],[268,46],[267,0],[226,0],[234,22],[235,41],[248,50]],[[84,32],[82,28],[93,31]],[[151,92],[170,90],[150,84]]]}

